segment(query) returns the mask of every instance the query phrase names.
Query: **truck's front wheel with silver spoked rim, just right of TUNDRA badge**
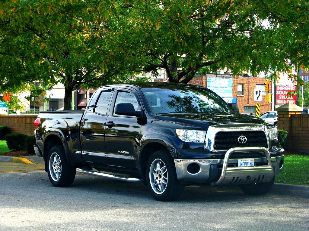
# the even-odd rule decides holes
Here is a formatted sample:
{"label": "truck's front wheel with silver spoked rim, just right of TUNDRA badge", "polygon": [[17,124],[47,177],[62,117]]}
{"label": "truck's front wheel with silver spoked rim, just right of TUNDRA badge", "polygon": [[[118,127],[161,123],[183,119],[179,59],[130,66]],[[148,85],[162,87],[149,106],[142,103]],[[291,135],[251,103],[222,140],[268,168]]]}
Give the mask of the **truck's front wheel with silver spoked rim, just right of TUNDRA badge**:
{"label": "truck's front wheel with silver spoked rim, just right of TUNDRA badge", "polygon": [[157,201],[174,201],[184,188],[177,179],[170,153],[164,150],[154,152],[150,156],[146,180],[151,196]]}

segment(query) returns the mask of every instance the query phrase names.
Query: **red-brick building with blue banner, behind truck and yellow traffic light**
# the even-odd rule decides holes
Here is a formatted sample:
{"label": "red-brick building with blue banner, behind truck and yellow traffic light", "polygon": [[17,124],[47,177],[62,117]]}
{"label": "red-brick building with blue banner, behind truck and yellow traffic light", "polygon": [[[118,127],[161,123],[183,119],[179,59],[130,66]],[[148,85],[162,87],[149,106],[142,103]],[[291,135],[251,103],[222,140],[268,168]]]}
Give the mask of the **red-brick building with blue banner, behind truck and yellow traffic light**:
{"label": "red-brick building with blue banner, behind truck and yellow traffic light", "polygon": [[[259,102],[260,114],[266,111],[273,111],[272,103],[268,103],[265,101],[265,95],[267,93],[264,90],[265,89],[264,82],[267,79],[260,77],[247,77],[247,76],[241,76],[236,78],[230,74],[218,74],[218,75],[209,74],[205,76],[196,76],[189,83],[210,88],[209,86],[207,86],[207,83],[209,83],[209,79],[211,78],[225,78],[228,79],[228,81],[231,81],[230,84],[232,89],[231,97],[234,99],[233,102],[235,101],[237,102],[240,113],[246,113],[246,114],[252,113],[253,115],[255,115],[256,110],[255,107],[257,102],[254,101],[254,89],[256,88],[261,89],[262,92],[262,101]],[[155,81],[163,81],[163,80],[155,79]],[[222,86],[222,88],[224,88],[224,86]],[[272,84],[270,82],[269,93],[271,92],[272,92]],[[218,92],[216,93],[218,94]]]}

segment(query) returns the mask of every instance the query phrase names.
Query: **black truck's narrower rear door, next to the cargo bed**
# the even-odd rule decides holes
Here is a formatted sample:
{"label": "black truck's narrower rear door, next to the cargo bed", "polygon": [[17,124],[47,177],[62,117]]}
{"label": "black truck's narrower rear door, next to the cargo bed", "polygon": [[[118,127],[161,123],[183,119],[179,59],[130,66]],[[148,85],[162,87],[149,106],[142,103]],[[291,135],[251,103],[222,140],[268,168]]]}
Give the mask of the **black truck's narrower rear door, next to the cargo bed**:
{"label": "black truck's narrower rear door, next to the cargo bed", "polygon": [[101,167],[106,164],[104,126],[114,89],[108,87],[96,91],[81,121],[80,133],[83,160],[94,167]]}

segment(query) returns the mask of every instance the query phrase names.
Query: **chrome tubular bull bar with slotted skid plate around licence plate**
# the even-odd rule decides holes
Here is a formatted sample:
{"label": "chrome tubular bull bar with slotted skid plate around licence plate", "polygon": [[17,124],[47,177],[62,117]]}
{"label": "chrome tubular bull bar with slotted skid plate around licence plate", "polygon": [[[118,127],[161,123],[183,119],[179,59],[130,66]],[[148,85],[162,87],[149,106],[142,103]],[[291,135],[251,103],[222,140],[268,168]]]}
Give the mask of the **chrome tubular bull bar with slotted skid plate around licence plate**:
{"label": "chrome tubular bull bar with slotted skid plate around licence plate", "polygon": [[[264,152],[267,164],[252,167],[228,167],[231,154],[235,152]],[[211,185],[219,184],[249,184],[269,182],[273,179],[274,171],[269,151],[264,147],[244,147],[229,149],[223,160],[222,172],[217,181]]]}

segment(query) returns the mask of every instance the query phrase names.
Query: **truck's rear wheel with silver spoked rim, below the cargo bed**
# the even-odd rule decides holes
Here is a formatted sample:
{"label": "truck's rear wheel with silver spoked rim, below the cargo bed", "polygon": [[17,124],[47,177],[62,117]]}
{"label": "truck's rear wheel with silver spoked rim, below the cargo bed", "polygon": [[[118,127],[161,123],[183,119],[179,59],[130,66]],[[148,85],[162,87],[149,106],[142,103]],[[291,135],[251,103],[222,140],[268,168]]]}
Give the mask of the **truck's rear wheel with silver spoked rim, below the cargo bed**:
{"label": "truck's rear wheel with silver spoked rim, below the cargo bed", "polygon": [[55,146],[50,149],[48,158],[48,178],[56,187],[70,186],[76,174],[76,168],[71,167],[66,160],[63,146]]}

